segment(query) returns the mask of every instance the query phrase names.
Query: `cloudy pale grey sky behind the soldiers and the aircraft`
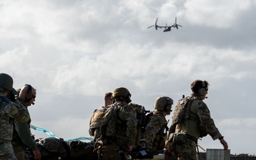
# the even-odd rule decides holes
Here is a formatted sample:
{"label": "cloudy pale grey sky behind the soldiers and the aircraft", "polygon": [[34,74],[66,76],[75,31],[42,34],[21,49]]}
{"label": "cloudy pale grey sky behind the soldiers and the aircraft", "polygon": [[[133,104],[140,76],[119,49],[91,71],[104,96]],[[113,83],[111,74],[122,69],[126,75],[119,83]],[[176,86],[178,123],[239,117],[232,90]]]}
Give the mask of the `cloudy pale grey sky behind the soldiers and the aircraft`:
{"label": "cloudy pale grey sky behind the soldiers and the aircraft", "polygon": [[[1,0],[0,70],[36,88],[31,124],[63,139],[89,137],[92,112],[116,87],[154,110],[156,97],[176,103],[208,80],[205,102],[231,154],[256,154],[255,15],[255,0]],[[147,28],[156,17],[183,27]],[[210,136],[199,145],[223,148]]]}

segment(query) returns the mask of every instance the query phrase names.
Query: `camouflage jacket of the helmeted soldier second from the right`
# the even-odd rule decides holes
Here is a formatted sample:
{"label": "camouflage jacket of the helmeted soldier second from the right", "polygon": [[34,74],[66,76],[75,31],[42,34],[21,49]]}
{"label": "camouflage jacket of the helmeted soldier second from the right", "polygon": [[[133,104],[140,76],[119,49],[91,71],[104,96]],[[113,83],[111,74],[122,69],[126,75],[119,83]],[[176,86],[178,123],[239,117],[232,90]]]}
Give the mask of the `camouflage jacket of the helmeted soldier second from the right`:
{"label": "camouflage jacket of the helmeted soldier second from the right", "polygon": [[147,124],[145,128],[146,132],[144,133],[144,139],[146,140],[146,146],[151,146],[153,149],[157,150],[156,145],[158,144],[161,136],[163,136],[159,134],[159,131],[163,129],[166,122],[166,118],[161,112],[154,113],[149,124]]}

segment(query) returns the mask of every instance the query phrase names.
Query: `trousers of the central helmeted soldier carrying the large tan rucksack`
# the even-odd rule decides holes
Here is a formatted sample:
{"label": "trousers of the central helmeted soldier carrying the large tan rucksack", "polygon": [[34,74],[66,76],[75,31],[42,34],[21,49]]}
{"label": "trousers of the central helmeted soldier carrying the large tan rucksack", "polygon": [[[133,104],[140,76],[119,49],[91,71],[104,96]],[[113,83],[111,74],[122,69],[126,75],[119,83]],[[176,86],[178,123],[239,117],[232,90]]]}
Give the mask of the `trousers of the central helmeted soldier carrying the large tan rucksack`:
{"label": "trousers of the central helmeted soldier carrying the large tan rucksack", "polygon": [[101,146],[97,149],[97,154],[99,160],[126,160],[126,155],[117,144]]}

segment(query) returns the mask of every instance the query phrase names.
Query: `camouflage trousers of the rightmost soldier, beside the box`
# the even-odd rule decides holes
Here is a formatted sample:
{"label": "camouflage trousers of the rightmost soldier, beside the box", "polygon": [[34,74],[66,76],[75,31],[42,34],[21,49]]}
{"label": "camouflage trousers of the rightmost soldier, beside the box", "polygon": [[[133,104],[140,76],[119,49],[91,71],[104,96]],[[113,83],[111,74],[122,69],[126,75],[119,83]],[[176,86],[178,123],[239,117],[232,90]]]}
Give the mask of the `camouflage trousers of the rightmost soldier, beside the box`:
{"label": "camouflage trousers of the rightmost soldier, beside the box", "polygon": [[176,144],[174,154],[178,160],[196,160],[196,142],[187,138],[184,144]]}

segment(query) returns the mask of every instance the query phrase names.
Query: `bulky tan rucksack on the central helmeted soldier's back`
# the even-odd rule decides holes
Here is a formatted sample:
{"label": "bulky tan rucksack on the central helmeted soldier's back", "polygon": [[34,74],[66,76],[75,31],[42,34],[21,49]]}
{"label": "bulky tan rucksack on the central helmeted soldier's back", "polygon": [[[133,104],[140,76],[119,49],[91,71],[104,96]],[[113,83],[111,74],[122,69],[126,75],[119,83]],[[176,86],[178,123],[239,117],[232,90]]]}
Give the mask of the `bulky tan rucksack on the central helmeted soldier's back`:
{"label": "bulky tan rucksack on the central helmeted soldier's back", "polygon": [[114,136],[116,132],[117,111],[115,105],[100,107],[90,119],[89,134],[95,139]]}

